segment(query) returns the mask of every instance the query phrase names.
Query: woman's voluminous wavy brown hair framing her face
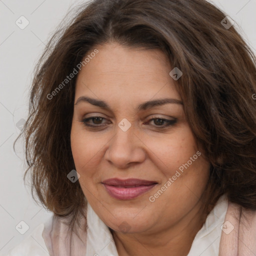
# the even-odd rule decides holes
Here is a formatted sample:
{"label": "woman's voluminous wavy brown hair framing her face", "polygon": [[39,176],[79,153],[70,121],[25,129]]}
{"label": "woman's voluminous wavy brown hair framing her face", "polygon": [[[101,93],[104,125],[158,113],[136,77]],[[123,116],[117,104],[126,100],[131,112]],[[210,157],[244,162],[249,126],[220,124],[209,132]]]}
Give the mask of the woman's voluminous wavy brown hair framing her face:
{"label": "woman's voluminous wavy brown hair framing her face", "polygon": [[[49,40],[30,91],[24,134],[32,194],[73,226],[84,194],[67,174],[75,169],[70,128],[76,76],[49,94],[96,45],[159,48],[183,75],[176,86],[198,145],[210,162],[208,199],[223,193],[256,209],[255,58],[244,40],[205,0],[93,0]],[[199,178],[199,177],[198,177]],[[33,195],[34,197],[34,195]]]}

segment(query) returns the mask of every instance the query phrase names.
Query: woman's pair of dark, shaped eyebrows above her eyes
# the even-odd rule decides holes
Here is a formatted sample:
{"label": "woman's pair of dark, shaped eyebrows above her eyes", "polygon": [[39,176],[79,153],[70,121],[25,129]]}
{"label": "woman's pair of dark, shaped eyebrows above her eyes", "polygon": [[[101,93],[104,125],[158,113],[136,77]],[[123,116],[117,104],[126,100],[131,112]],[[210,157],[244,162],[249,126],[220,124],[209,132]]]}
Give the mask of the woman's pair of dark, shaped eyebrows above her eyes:
{"label": "woman's pair of dark, shaped eyebrows above her eyes", "polygon": [[[99,100],[99,99],[95,99],[95,98],[90,98],[90,97],[85,97],[85,96],[80,96],[74,105],[77,105],[80,102],[89,102],[90,104],[94,105],[94,106],[99,106],[101,108],[105,108],[105,109],[109,109],[110,107],[109,105],[103,101],[103,100]],[[139,104],[137,106],[138,110],[146,110],[148,108],[154,107],[154,106],[160,106],[160,105],[164,105],[167,103],[171,103],[171,104],[181,104],[183,105],[183,102],[175,99],[175,98],[161,98],[161,99],[155,99],[155,100],[149,100],[149,101],[145,101],[141,104]]]}

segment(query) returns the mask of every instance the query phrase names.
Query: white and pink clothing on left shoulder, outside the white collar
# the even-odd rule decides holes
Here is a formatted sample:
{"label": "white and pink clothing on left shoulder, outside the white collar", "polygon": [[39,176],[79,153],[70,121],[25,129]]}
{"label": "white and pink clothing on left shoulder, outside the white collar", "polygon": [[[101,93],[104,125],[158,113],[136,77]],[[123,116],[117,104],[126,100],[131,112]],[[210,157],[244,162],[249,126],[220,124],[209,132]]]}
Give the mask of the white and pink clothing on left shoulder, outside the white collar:
{"label": "white and pink clothing on left shoulder, outside the white collar", "polygon": [[[44,223],[40,223],[16,247],[11,249],[6,256],[49,256],[85,255],[86,251],[86,219],[79,218],[82,228],[71,232],[68,217],[52,215]],[[83,254],[80,254],[83,253]]]}

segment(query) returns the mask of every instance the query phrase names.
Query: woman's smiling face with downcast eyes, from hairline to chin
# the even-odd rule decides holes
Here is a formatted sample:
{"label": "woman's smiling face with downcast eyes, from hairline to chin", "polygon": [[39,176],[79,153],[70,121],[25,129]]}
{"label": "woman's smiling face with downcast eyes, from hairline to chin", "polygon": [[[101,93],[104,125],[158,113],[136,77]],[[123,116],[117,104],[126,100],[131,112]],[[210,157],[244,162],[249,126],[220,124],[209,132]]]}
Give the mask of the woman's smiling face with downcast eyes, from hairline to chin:
{"label": "woman's smiling face with downcast eyes, from hairline to chin", "polygon": [[173,67],[158,49],[96,48],[78,73],[71,127],[85,197],[115,231],[153,232],[190,221],[209,163],[186,121]]}

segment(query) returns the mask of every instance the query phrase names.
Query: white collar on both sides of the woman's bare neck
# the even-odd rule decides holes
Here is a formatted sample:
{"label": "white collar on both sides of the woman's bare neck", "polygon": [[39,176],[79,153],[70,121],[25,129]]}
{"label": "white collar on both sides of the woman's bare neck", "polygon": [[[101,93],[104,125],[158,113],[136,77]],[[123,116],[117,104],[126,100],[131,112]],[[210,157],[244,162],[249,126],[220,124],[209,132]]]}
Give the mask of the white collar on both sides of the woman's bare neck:
{"label": "white collar on both sides of the woman's bare neck", "polygon": [[[204,251],[205,255],[208,256],[218,255],[220,226],[224,222],[227,206],[227,197],[222,195],[197,232],[187,256],[198,255],[199,251]],[[87,203],[87,226],[86,255],[118,256],[109,228],[98,217],[89,203]]]}

